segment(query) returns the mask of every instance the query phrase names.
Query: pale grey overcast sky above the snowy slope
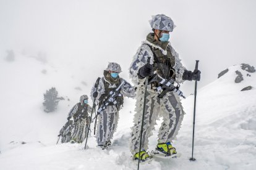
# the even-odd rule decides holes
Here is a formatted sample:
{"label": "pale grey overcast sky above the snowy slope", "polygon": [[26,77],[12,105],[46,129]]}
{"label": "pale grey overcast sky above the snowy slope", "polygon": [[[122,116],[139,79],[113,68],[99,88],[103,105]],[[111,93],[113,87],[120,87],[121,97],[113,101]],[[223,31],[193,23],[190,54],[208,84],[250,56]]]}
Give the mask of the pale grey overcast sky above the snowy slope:
{"label": "pale grey overcast sky above the snowy slope", "polygon": [[[255,9],[254,0],[0,0],[0,62],[6,50],[44,51],[56,67],[85,68],[89,83],[108,62],[120,63],[128,79],[132,57],[151,31],[148,20],[165,14],[176,25],[170,41],[187,70],[200,60],[202,87],[229,66],[256,66]],[[193,88],[183,86],[187,93]]]}

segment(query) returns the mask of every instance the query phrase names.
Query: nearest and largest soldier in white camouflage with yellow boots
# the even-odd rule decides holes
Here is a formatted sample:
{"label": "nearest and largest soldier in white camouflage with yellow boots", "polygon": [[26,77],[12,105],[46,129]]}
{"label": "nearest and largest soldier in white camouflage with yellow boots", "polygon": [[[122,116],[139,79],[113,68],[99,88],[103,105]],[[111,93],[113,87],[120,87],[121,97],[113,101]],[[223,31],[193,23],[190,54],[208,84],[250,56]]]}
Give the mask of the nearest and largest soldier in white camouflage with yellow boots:
{"label": "nearest and largest soldier in white camouflage with yellow boots", "polygon": [[[137,103],[135,108],[134,126],[130,137],[130,151],[134,159],[146,161],[150,158],[148,155],[148,137],[155,129],[156,119],[163,116],[158,132],[158,145],[156,150],[165,156],[176,154],[176,149],[171,145],[181,126],[184,116],[179,96],[169,91],[163,98],[158,97],[160,92],[155,89],[161,86],[160,83],[151,83],[148,85],[147,103],[145,107],[145,116],[142,132],[142,150],[139,154],[140,128],[142,125],[143,99],[145,93],[145,78],[160,75],[164,79],[175,79],[177,83],[184,80],[200,80],[200,71],[187,71],[182,66],[181,59],[169,43],[169,32],[172,32],[175,25],[171,18],[166,15],[153,15],[150,20],[150,26],[153,33],[149,33],[147,40],[142,42],[129,68],[130,78],[137,87]],[[147,59],[150,57],[150,63]]]}

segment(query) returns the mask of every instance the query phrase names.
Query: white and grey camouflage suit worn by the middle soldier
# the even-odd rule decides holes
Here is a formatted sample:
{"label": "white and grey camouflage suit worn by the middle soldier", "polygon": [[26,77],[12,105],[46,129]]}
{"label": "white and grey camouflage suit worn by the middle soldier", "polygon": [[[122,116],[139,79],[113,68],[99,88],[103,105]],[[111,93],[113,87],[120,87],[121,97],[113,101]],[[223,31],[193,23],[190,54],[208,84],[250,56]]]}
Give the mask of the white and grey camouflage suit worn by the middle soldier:
{"label": "white and grey camouflage suit worn by the middle soldier", "polygon": [[[121,79],[121,82],[125,81],[122,78],[120,79]],[[106,81],[104,76],[99,81],[98,90],[97,90],[98,96],[96,97],[96,101],[100,98],[102,94],[105,94],[105,84],[103,81]],[[109,83],[108,81],[106,81],[106,84],[108,84],[107,86],[109,86],[109,88],[116,87],[116,84],[111,85],[111,83]],[[93,92],[95,91],[96,91],[96,88],[93,87],[91,94],[93,94]],[[134,86],[131,86],[129,83],[127,83],[122,87],[121,94],[126,97],[134,98],[135,97]],[[92,100],[94,100],[93,97],[92,97]],[[116,105],[109,105],[108,107],[106,107],[105,110],[103,110],[103,112],[100,115],[98,115],[98,120],[97,120],[98,127],[96,132],[96,140],[98,145],[105,145],[106,141],[113,139],[113,134],[116,131],[117,122],[119,119],[120,109],[121,108],[120,107],[117,108]]]}

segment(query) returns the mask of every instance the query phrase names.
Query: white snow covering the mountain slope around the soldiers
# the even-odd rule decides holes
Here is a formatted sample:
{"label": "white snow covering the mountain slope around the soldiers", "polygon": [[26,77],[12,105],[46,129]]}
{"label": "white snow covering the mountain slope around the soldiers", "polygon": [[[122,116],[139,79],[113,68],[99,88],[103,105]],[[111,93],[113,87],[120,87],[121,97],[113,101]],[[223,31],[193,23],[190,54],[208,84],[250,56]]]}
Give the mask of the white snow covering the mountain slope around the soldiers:
{"label": "white snow covering the mountain slope around the soldiers", "polygon": [[[129,152],[134,100],[125,99],[113,147],[109,150],[97,148],[94,136],[89,137],[86,150],[84,143],[56,145],[68,111],[82,93],[89,94],[93,83],[81,79],[80,67],[70,73],[52,63],[41,63],[27,55],[18,56],[12,63],[0,62],[0,78],[4,82],[0,85],[0,169],[137,169],[137,161],[132,161]],[[181,157],[155,158],[150,163],[140,164],[140,169],[256,168],[256,73],[246,76],[248,72],[241,70],[240,65],[228,69],[221,78],[198,89],[194,145],[197,161],[189,161],[194,109],[194,95],[190,95],[182,100],[186,115],[173,142]],[[46,73],[41,73],[42,70]],[[238,84],[234,83],[236,70],[244,76],[244,81]],[[88,86],[82,85],[82,81]],[[194,82],[190,84],[194,86]],[[52,86],[65,100],[59,102],[54,113],[45,113],[43,93]],[[82,91],[75,90],[78,86]],[[254,88],[241,91],[246,86]],[[157,131],[153,131],[150,137],[150,152],[155,148],[156,134]]]}

